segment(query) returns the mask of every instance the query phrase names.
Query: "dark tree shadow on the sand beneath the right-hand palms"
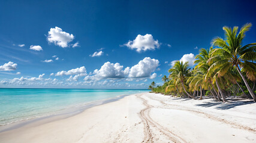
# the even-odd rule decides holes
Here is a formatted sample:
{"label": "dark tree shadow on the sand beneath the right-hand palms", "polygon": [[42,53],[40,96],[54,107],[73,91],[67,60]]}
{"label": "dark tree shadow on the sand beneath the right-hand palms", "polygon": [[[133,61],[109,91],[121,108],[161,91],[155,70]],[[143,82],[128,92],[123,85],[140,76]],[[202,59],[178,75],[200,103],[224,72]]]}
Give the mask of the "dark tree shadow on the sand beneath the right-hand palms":
{"label": "dark tree shadow on the sand beneath the right-hand palms", "polygon": [[212,107],[216,106],[215,108],[218,110],[228,110],[230,108],[234,108],[240,105],[246,105],[246,104],[254,104],[253,101],[235,101],[235,102],[205,102],[204,104],[196,104],[197,106],[201,107]]}

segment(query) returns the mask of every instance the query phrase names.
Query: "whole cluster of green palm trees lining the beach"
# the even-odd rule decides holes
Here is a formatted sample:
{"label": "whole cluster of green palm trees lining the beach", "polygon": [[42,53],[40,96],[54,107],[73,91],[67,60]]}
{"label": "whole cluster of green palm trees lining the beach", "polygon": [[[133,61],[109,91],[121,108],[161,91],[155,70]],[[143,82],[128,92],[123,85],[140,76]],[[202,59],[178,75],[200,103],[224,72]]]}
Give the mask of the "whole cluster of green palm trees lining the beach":
{"label": "whole cluster of green palm trees lining the beach", "polygon": [[251,26],[251,23],[245,24],[240,30],[237,26],[233,29],[224,26],[225,39],[217,37],[213,39],[212,47],[200,49],[193,69],[189,69],[188,63],[176,61],[168,70],[170,75],[162,77],[164,85],[155,88],[153,82],[149,88],[194,99],[200,94],[199,100],[207,92],[224,102],[232,94],[256,101],[256,43],[243,45],[245,33]]}

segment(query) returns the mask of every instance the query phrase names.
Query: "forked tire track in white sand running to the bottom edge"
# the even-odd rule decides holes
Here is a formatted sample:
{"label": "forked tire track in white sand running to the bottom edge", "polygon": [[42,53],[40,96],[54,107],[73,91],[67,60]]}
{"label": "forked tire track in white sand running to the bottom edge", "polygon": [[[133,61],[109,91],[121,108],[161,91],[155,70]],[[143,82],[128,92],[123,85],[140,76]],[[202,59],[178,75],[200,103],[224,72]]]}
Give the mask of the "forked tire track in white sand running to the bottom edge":
{"label": "forked tire track in white sand running to the bottom edge", "polygon": [[153,142],[152,130],[150,127],[159,130],[159,132],[163,133],[167,138],[169,138],[173,142],[186,142],[184,139],[177,136],[175,133],[171,132],[167,128],[159,125],[155,122],[150,116],[149,111],[151,108],[154,108],[152,105],[147,104],[147,101],[141,97],[141,95],[137,95],[136,97],[140,98],[143,101],[143,104],[146,106],[143,110],[140,111],[141,120],[143,120],[144,124],[144,141],[143,142]]}

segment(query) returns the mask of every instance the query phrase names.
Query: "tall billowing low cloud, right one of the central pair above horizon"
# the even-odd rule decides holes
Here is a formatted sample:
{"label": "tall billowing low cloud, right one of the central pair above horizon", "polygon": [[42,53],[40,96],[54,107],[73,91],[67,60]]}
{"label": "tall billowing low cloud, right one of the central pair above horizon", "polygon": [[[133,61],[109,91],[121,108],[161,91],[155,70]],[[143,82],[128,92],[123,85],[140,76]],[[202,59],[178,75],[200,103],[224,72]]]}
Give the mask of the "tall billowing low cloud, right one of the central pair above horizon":
{"label": "tall billowing low cloud, right one of the central pair above horizon", "polygon": [[131,67],[129,71],[129,77],[132,78],[140,78],[140,77],[149,77],[150,73],[156,70],[159,66],[159,61],[154,58],[151,59],[149,57],[144,58],[138,64]]}

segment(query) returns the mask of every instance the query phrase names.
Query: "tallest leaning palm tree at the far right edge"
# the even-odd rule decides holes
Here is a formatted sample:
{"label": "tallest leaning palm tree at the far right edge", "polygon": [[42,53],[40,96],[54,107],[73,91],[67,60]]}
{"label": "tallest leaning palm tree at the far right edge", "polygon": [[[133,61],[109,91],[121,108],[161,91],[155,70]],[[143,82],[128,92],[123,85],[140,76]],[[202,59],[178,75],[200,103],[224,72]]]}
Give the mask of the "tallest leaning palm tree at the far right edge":
{"label": "tallest leaning palm tree at the far right edge", "polygon": [[245,32],[247,32],[251,26],[251,23],[245,24],[240,29],[239,33],[237,33],[237,26],[234,26],[233,29],[224,26],[225,40],[219,37],[213,39],[213,45],[219,48],[213,50],[212,58],[209,59],[209,62],[214,61],[211,68],[219,68],[218,76],[223,76],[231,67],[235,66],[243,82],[245,82],[251,97],[256,101],[254,92],[240,71],[240,68],[245,71],[256,70],[256,63],[254,63],[254,61],[256,61],[256,43],[249,43],[242,46]]}

